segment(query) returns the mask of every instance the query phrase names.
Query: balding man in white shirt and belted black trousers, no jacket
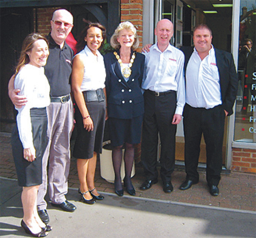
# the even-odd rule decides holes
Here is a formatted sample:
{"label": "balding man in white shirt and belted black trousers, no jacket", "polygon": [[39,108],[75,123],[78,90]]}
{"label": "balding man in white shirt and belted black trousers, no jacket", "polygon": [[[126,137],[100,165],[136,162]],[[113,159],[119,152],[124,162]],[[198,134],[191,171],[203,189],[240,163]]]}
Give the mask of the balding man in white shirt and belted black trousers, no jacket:
{"label": "balding man in white shirt and belted black trousers, no jacket", "polygon": [[170,45],[173,24],[168,19],[158,22],[157,43],[145,53],[145,77],[142,82],[145,114],[142,129],[141,161],[146,180],[142,190],[158,182],[158,134],[161,140],[160,175],[163,190],[173,191],[171,175],[175,164],[175,136],[185,104],[184,54]]}

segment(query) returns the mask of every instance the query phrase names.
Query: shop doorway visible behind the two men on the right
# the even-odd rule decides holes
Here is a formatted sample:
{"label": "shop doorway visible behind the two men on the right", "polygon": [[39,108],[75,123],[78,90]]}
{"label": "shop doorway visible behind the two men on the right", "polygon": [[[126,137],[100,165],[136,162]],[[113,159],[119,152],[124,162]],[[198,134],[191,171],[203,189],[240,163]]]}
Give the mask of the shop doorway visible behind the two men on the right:
{"label": "shop doorway visible behind the two men on the right", "polygon": [[[231,51],[231,23],[232,23],[232,0],[223,1],[227,4],[219,7],[216,0],[156,0],[161,6],[162,13],[159,19],[169,18],[174,23],[174,36],[172,45],[193,46],[193,29],[198,24],[206,24],[212,30],[212,45],[224,51]],[[156,17],[156,21],[159,20]],[[225,122],[225,135],[223,140],[223,166],[226,161],[226,143],[228,120]],[[201,153],[199,162],[206,163],[206,145],[201,140]],[[184,161],[184,134],[183,122],[177,127],[176,134],[176,160]]]}

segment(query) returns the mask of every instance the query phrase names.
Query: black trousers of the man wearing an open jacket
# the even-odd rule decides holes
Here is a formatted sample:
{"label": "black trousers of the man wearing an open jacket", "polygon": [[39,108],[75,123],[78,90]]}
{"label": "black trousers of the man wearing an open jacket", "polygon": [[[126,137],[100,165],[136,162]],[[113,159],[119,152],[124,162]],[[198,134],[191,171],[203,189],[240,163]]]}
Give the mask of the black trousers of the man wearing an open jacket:
{"label": "black trousers of the man wearing an open jacket", "polygon": [[208,185],[218,185],[222,170],[224,109],[221,105],[206,110],[185,104],[183,117],[186,179],[194,182],[199,180],[197,167],[203,134],[206,144],[206,180]]}

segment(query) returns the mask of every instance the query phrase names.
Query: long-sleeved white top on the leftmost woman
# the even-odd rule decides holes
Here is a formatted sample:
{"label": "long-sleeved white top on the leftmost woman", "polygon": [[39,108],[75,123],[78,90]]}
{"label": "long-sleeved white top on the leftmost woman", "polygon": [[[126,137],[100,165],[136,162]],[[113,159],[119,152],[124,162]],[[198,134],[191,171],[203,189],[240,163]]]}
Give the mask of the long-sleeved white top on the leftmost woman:
{"label": "long-sleeved white top on the leftmost woman", "polygon": [[31,148],[34,144],[30,109],[50,104],[50,85],[45,76],[45,69],[26,64],[16,75],[14,88],[20,89],[19,95],[24,95],[28,100],[25,106],[16,110],[19,138],[24,148]]}

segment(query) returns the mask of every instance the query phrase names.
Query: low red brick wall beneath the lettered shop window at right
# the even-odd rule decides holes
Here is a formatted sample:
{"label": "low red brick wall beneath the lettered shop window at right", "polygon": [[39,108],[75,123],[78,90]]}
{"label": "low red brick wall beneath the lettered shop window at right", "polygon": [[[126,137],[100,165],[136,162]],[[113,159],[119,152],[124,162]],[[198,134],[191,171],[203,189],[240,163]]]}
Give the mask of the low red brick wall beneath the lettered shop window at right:
{"label": "low red brick wall beneath the lettered shop window at right", "polygon": [[231,170],[256,173],[256,149],[232,148]]}

